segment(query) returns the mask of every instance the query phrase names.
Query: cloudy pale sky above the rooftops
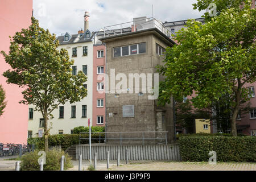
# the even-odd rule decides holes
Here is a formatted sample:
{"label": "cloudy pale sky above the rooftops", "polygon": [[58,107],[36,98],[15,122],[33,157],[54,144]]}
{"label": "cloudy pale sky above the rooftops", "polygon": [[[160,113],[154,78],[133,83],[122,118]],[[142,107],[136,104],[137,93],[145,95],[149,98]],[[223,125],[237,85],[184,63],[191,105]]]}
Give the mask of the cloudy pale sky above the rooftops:
{"label": "cloudy pale sky above the rooftops", "polygon": [[162,22],[200,18],[204,14],[193,10],[196,0],[33,0],[34,16],[40,27],[60,36],[77,34],[84,29],[84,12],[88,11],[89,30],[99,31],[113,24],[130,22],[133,18],[152,17]]}

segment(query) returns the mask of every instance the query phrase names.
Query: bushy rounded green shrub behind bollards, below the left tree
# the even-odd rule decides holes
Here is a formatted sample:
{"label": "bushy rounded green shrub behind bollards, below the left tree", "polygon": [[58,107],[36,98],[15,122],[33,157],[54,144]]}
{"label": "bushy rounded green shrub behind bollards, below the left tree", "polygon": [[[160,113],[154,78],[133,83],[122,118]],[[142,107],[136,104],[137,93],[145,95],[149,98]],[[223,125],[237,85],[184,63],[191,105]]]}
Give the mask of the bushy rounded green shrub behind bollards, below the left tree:
{"label": "bushy rounded green shrub behind bollards, below the left tree", "polygon": [[[39,150],[31,152],[26,155],[22,155],[20,170],[21,171],[39,171],[40,166],[38,164]],[[46,164],[44,165],[44,171],[57,171],[60,170],[61,156],[65,156],[66,162],[64,162],[64,169],[73,167],[71,158],[67,153],[60,150],[49,150],[46,152]]]}

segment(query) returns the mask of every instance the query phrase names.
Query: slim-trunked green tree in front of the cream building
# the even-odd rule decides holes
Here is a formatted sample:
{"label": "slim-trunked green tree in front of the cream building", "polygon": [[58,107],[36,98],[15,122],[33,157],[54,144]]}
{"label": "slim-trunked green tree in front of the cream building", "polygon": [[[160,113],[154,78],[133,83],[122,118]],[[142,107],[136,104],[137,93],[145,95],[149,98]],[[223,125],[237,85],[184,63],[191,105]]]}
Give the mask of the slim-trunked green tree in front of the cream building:
{"label": "slim-trunked green tree in front of the cream building", "polygon": [[39,27],[38,20],[31,18],[31,26],[16,32],[10,42],[7,55],[1,51],[11,70],[3,73],[8,83],[24,87],[24,100],[19,103],[32,104],[44,118],[45,150],[48,150],[48,119],[60,104],[79,102],[86,97],[83,83],[86,76],[81,71],[72,75],[73,60],[68,51],[57,49],[59,41],[48,30]]}

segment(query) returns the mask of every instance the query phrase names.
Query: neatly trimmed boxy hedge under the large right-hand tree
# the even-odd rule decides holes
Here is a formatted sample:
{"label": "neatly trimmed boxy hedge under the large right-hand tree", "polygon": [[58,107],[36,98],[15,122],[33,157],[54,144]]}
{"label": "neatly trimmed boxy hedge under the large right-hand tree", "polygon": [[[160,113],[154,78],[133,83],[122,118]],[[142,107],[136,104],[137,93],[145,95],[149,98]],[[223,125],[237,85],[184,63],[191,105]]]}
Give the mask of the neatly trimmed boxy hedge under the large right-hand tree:
{"label": "neatly trimmed boxy hedge under the large right-hand tree", "polygon": [[183,161],[209,160],[209,151],[216,151],[217,162],[256,162],[256,137],[180,137]]}

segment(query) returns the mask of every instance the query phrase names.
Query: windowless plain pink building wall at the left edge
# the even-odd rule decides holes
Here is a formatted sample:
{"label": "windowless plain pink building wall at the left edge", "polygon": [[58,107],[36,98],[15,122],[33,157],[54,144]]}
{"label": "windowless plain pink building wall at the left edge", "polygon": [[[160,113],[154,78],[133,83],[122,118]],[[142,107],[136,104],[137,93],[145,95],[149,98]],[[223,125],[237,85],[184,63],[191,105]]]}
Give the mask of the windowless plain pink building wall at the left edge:
{"label": "windowless plain pink building wall at the left edge", "polygon": [[[31,24],[32,0],[0,1],[0,50],[9,52],[10,38]],[[0,54],[0,84],[6,92],[7,106],[0,117],[0,143],[27,143],[28,106],[19,104],[23,99],[22,88],[7,84],[3,72],[10,69]]]}

